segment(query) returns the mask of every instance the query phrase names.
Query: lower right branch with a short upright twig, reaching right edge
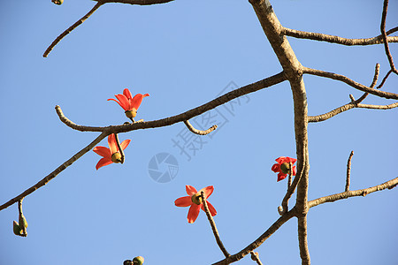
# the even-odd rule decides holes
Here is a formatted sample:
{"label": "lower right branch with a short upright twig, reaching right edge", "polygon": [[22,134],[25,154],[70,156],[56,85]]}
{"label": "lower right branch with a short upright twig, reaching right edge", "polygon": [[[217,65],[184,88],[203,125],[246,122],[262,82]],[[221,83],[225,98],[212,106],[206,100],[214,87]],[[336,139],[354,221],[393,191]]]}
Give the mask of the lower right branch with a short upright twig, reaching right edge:
{"label": "lower right branch with a short upright twig, reaching right edge", "polygon": [[388,180],[387,182],[380,184],[378,186],[372,186],[372,187],[362,189],[362,190],[347,191],[344,193],[336,193],[333,195],[321,197],[316,200],[309,201],[308,205],[309,205],[309,208],[312,208],[314,206],[318,206],[319,204],[323,204],[325,202],[339,201],[339,200],[348,199],[349,197],[355,197],[355,196],[366,196],[369,193],[375,193],[375,192],[379,192],[379,191],[382,191],[385,189],[391,189],[397,185],[398,185],[398,178],[394,178],[394,179]]}

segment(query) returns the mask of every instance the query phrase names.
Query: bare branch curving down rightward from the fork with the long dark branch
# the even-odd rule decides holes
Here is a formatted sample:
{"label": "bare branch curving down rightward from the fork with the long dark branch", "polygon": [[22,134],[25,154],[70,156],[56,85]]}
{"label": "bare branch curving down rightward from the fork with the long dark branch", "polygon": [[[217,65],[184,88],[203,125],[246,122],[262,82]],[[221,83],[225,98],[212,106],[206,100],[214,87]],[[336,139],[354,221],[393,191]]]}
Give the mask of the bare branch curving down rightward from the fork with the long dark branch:
{"label": "bare branch curving down rightward from the fork with the long dark branch", "polygon": [[387,99],[398,99],[398,94],[395,93],[390,93],[390,92],[385,92],[385,91],[380,91],[371,87],[366,87],[360,83],[357,83],[356,81],[352,80],[352,79],[348,79],[348,77],[341,75],[341,74],[337,74],[334,72],[325,72],[325,71],[321,71],[321,70],[316,70],[316,69],[311,69],[308,67],[304,67],[302,66],[302,72],[303,73],[308,73],[308,74],[312,74],[312,75],[317,75],[317,76],[321,76],[321,77],[325,77],[328,79],[335,79],[335,80],[339,80],[342,81],[344,83],[346,83],[348,86],[350,87],[354,87],[358,90],[367,92],[371,95],[378,95],[379,97],[385,97]]}

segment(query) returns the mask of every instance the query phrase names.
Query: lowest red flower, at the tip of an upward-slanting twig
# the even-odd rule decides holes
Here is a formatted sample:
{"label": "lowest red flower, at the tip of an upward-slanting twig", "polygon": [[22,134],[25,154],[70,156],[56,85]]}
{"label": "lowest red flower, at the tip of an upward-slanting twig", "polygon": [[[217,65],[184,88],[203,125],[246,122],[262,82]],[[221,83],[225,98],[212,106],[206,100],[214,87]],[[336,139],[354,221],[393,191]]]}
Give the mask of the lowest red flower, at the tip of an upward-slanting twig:
{"label": "lowest red flower, at the tip of an upward-slanting twig", "polygon": [[[203,201],[201,197],[202,191],[204,192],[204,198],[207,201],[207,198],[213,193],[214,187],[213,186],[206,186],[199,192],[196,191],[195,187],[193,186],[185,186],[187,193],[189,196],[181,197],[177,200],[174,201],[175,206],[178,207],[188,207],[188,223],[194,223],[197,216],[199,216],[199,212],[201,211],[200,209],[202,208],[204,211],[204,206],[203,206]],[[216,216],[217,211],[216,209],[211,205],[209,201],[207,201],[207,206],[209,207],[210,214],[211,216]]]}

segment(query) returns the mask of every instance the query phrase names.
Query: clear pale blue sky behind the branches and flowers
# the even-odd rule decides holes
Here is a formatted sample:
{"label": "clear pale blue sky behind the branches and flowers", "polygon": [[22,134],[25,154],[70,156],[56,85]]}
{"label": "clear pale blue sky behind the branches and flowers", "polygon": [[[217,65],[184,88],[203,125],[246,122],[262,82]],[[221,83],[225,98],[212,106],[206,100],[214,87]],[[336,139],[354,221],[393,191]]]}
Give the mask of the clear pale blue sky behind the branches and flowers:
{"label": "clear pale blue sky behind the branches and flowers", "polygon": [[[390,1],[387,28],[396,27],[398,1]],[[123,111],[108,98],[130,88],[149,93],[138,117],[154,120],[209,102],[233,81],[241,87],[280,72],[248,1],[174,1],[156,6],[105,4],[43,58],[50,43],[94,6],[92,1],[0,1],[0,203],[33,186],[98,133],[61,123],[54,107],[80,125],[120,125]],[[379,34],[382,1],[272,1],[282,25],[372,37]],[[374,65],[388,70],[381,45],[341,47],[289,39],[305,66],[347,75],[370,85]],[[398,64],[396,44],[391,45]],[[330,79],[305,76],[310,115],[362,95]],[[385,85],[397,93],[398,79]],[[393,101],[369,96],[366,103]],[[206,216],[187,222],[174,200],[185,186],[214,186],[209,201],[232,254],[249,245],[278,217],[286,181],[276,182],[274,159],[295,157],[292,95],[288,83],[243,97],[228,122],[206,143],[180,155],[172,140],[183,124],[124,133],[126,163],[100,170],[90,151],[24,200],[27,238],[12,233],[17,205],[0,212],[0,264],[122,264],[136,255],[145,264],[210,264],[223,258]],[[310,200],[344,189],[351,150],[351,189],[397,177],[397,110],[349,110],[309,125]],[[198,140],[196,140],[198,141]],[[101,143],[107,146],[106,140]],[[160,184],[149,160],[166,152],[177,176]],[[164,168],[163,168],[164,169]],[[311,208],[313,264],[396,264],[398,190],[372,193]],[[257,251],[264,264],[300,264],[296,220]],[[249,257],[240,264],[254,264]]]}

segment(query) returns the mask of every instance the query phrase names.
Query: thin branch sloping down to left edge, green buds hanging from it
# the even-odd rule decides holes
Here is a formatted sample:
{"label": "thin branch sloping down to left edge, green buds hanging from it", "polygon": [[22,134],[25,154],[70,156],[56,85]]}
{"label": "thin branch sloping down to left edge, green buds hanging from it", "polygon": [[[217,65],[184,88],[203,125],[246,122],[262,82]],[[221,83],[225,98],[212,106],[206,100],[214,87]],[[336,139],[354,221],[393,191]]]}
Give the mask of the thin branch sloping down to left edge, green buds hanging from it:
{"label": "thin branch sloping down to left edge, green buds hanging from it", "polygon": [[63,170],[65,170],[68,166],[70,166],[71,164],[73,164],[73,162],[75,162],[76,160],[78,160],[82,155],[86,154],[89,150],[91,150],[92,148],[94,148],[101,140],[103,140],[103,138],[105,138],[108,134],[107,133],[101,133],[96,140],[93,140],[91,143],[88,144],[87,147],[81,149],[78,153],[76,153],[75,155],[73,155],[69,160],[67,160],[65,163],[61,164],[59,167],[57,167],[56,170],[52,171],[49,175],[47,175],[45,178],[42,178],[42,180],[40,180],[39,182],[37,182],[34,186],[31,186],[30,188],[28,188],[25,192],[20,193],[17,197],[11,199],[10,201],[5,202],[3,205],[0,206],[0,211],[3,210],[4,208],[7,208],[9,206],[11,206],[12,204],[14,204],[15,202],[19,201],[20,199],[26,197],[27,195],[29,195],[30,193],[33,193],[35,190],[37,190],[38,188],[45,186],[47,183],[49,183],[49,181],[52,178],[57,177],[57,175],[62,172]]}

